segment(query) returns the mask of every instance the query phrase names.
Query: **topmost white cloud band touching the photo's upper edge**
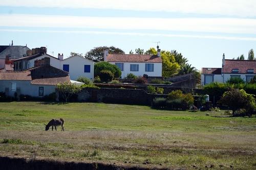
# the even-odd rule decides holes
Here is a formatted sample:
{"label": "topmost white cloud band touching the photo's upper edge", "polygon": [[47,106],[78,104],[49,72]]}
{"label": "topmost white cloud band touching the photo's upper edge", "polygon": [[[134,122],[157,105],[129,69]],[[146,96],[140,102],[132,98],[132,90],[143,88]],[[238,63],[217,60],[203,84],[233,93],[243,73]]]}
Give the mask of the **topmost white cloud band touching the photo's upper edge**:
{"label": "topmost white cloud band touching the photo's upper edge", "polygon": [[255,17],[255,0],[1,0],[0,6],[165,11]]}

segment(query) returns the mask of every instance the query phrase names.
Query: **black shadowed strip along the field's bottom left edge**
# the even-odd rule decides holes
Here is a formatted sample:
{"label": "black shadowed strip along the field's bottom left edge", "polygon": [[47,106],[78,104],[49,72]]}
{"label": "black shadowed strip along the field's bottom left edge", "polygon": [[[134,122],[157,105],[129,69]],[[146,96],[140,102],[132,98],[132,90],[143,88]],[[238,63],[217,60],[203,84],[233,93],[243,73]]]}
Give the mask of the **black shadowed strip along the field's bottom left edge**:
{"label": "black shadowed strip along the field's bottom left edge", "polygon": [[[86,163],[86,162],[60,162],[55,160],[32,160],[25,158],[0,157],[0,169],[8,170],[149,170],[160,168],[144,168],[139,166],[118,166],[115,164]],[[161,168],[165,170],[166,168]]]}

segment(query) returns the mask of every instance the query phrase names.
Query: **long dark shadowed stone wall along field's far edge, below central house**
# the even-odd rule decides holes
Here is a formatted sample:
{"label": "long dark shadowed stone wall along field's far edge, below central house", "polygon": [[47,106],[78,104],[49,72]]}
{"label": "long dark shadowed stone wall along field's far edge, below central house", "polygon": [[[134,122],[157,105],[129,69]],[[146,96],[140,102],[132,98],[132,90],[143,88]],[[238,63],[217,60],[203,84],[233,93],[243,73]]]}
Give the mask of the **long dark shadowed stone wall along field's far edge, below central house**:
{"label": "long dark shadowed stone wall along field's far edge, below central house", "polygon": [[78,94],[78,101],[151,106],[154,98],[166,97],[166,94],[150,94],[143,89],[84,88]]}

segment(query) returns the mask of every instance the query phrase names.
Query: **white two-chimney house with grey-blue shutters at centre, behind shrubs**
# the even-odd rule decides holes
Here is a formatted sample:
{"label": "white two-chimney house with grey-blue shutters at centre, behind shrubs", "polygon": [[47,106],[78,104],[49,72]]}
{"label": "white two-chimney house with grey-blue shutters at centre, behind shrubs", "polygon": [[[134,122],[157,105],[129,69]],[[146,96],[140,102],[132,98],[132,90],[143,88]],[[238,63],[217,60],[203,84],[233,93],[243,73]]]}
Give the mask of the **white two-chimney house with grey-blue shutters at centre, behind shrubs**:
{"label": "white two-chimney house with grey-blue shutters at centre, behind shrubs", "polygon": [[162,59],[160,49],[158,55],[137,55],[137,54],[108,54],[104,51],[104,61],[117,65],[122,72],[121,78],[127,74],[150,77],[162,77]]}

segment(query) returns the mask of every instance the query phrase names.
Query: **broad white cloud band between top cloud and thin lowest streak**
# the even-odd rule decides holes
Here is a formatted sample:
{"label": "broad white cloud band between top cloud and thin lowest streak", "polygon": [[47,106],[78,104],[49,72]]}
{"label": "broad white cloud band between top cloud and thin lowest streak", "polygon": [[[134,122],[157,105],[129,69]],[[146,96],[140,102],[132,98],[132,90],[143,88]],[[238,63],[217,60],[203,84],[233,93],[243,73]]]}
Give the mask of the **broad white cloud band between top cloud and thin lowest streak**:
{"label": "broad white cloud band between top cloud and thin lowest streak", "polygon": [[117,30],[256,34],[256,19],[243,18],[136,18],[61,15],[0,15],[2,27],[48,27]]}

